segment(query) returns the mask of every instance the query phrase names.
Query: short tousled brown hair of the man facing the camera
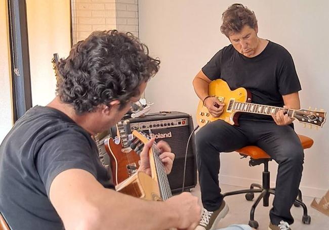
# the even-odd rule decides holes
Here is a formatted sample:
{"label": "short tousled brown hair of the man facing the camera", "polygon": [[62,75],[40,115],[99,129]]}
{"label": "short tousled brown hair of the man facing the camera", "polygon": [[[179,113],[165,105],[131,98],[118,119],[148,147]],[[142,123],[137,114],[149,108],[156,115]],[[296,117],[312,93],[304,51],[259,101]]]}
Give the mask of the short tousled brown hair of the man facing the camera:
{"label": "short tousled brown hair of the man facing the camera", "polygon": [[249,25],[253,29],[257,27],[254,11],[249,10],[242,4],[236,3],[228,7],[222,15],[222,20],[221,32],[227,37],[232,33],[240,32],[245,25]]}

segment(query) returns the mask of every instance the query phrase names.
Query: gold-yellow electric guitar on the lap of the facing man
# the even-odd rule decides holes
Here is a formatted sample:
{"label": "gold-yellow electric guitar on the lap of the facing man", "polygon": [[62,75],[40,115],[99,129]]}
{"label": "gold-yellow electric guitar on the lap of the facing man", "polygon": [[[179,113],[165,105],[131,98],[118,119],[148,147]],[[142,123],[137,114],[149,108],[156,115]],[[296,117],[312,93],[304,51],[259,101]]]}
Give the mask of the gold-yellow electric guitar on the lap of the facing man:
{"label": "gold-yellow electric guitar on the lap of the facing man", "polygon": [[232,91],[222,79],[210,82],[208,94],[217,97],[220,102],[225,103],[224,111],[219,117],[213,117],[207,107],[203,106],[202,101],[200,101],[196,113],[197,123],[200,127],[218,119],[224,120],[231,125],[238,125],[240,113],[271,115],[272,113],[276,114],[280,110],[284,110],[284,113],[288,114],[289,117],[296,118],[304,124],[322,127],[325,122],[326,112],[324,111],[284,109],[251,103],[251,93],[247,89],[240,87]]}

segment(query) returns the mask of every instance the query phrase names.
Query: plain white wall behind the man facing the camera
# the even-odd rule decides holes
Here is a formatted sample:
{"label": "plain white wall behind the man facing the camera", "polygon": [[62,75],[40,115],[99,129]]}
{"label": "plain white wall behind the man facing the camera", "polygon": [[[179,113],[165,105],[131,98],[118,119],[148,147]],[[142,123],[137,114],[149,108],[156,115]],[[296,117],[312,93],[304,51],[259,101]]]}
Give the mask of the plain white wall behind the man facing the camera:
{"label": "plain white wall behind the man facing the camera", "polygon": [[[259,36],[282,44],[292,54],[303,90],[301,105],[329,111],[327,30],[329,2],[321,1],[240,1],[256,13]],[[235,1],[218,0],[139,0],[140,39],[152,56],[161,60],[158,74],[146,89],[154,102],[153,111],[177,110],[193,115],[198,98],[192,79],[210,58],[229,40],[220,33],[221,15]],[[329,188],[329,121],[318,131],[304,129],[300,134],[314,139],[305,151],[301,189],[304,195],[322,197]],[[248,187],[261,180],[262,167],[250,168],[237,153],[222,154],[221,182]],[[271,181],[276,164],[270,165]]]}

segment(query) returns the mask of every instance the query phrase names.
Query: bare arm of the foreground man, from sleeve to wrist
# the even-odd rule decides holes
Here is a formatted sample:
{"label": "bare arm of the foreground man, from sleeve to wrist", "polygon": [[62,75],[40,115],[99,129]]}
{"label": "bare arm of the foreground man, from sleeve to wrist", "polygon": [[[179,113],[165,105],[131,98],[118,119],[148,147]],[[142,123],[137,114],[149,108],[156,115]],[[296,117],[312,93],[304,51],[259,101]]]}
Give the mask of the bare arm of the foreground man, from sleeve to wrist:
{"label": "bare arm of the foreground man, from sleeve to wrist", "polygon": [[50,200],[67,230],[168,229],[177,226],[181,217],[175,205],[104,189],[92,174],[81,169],[56,176]]}

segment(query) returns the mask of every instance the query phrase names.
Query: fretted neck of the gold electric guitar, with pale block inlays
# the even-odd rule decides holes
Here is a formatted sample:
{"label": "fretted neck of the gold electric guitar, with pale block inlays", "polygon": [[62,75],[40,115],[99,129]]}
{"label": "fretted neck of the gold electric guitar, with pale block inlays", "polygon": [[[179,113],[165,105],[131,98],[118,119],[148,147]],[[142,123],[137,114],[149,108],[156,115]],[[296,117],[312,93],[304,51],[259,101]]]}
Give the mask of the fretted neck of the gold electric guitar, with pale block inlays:
{"label": "fretted neck of the gold electric guitar, with pale block inlays", "polygon": [[289,117],[294,118],[295,110],[294,109],[284,109],[281,107],[275,106],[265,106],[248,102],[236,102],[231,101],[227,107],[228,111],[238,111],[244,113],[256,113],[263,115],[276,114],[280,110],[283,110],[284,114],[287,114]]}

